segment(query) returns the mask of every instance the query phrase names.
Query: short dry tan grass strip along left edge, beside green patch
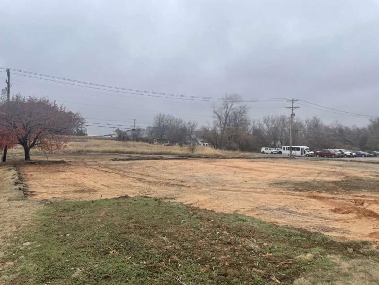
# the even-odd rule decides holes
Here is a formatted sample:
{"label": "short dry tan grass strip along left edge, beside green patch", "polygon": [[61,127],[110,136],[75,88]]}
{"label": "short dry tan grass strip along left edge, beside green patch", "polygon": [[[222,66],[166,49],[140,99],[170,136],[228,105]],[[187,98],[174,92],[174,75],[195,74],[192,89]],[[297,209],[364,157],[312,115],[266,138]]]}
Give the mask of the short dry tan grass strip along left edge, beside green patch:
{"label": "short dry tan grass strip along left edge, beside green patch", "polygon": [[[0,259],[9,250],[9,241],[18,238],[40,207],[38,202],[25,199],[23,187],[14,167],[0,167]],[[13,266],[13,262],[0,262],[0,283],[14,278],[8,274]]]}

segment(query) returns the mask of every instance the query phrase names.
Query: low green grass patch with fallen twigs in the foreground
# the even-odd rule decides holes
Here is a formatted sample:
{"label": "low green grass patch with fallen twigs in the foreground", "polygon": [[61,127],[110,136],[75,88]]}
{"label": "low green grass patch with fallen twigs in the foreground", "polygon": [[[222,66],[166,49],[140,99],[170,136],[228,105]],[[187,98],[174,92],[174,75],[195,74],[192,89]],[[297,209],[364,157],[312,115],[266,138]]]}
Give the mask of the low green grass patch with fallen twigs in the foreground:
{"label": "low green grass patch with fallen twigs in the foreground", "polygon": [[146,197],[50,202],[34,224],[0,260],[20,268],[11,282],[290,284],[333,279],[330,256],[378,259],[366,242]]}

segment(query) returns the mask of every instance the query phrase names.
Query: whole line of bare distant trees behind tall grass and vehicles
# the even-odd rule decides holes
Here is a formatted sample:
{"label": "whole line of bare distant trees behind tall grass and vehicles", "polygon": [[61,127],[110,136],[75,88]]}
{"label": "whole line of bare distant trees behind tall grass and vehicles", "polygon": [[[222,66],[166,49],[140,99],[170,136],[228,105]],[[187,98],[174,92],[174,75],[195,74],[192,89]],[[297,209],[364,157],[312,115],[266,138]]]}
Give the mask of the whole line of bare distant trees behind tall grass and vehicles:
{"label": "whole line of bare distant trees behind tall grass and vehicles", "polygon": [[[213,105],[212,113],[210,124],[200,128],[195,121],[159,113],[153,126],[135,130],[134,139],[189,144],[202,138],[216,149],[240,151],[289,145],[289,114],[250,119],[249,107],[236,94],[226,95],[220,104]],[[131,139],[130,131],[117,129],[116,133],[120,140]],[[325,124],[319,117],[295,118],[292,138],[293,145],[309,146],[312,150],[379,150],[379,118],[370,119],[365,127],[343,126],[337,122]]]}

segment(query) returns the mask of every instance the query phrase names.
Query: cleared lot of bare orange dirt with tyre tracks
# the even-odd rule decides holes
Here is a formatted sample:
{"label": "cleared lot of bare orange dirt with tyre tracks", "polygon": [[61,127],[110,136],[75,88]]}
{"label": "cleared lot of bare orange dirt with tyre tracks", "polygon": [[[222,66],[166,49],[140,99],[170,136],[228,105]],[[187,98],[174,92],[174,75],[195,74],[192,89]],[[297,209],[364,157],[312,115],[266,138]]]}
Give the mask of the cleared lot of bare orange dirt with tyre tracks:
{"label": "cleared lot of bare orange dirt with tyre tracks", "polygon": [[[303,159],[111,161],[19,167],[31,199],[174,199],[338,239],[379,242],[379,164]],[[67,157],[66,157],[67,161]]]}

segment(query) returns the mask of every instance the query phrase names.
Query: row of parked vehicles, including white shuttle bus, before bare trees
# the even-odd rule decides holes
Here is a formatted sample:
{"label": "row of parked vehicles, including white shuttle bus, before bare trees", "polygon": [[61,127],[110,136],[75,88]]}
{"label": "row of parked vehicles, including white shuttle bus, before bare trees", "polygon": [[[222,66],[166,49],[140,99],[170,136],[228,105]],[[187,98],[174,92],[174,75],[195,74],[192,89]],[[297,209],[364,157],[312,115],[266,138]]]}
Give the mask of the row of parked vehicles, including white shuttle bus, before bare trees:
{"label": "row of parked vehicles, including white shuttle bus, before bare trees", "polygon": [[[331,158],[339,158],[339,157],[379,157],[379,151],[367,150],[346,150],[346,149],[337,149],[337,148],[328,148],[323,149],[321,151],[313,150],[310,151],[307,146],[292,146],[292,156],[305,156],[305,157],[331,157]],[[290,147],[282,146],[282,148],[274,148],[274,147],[262,147],[262,154],[283,154],[290,155]]]}

